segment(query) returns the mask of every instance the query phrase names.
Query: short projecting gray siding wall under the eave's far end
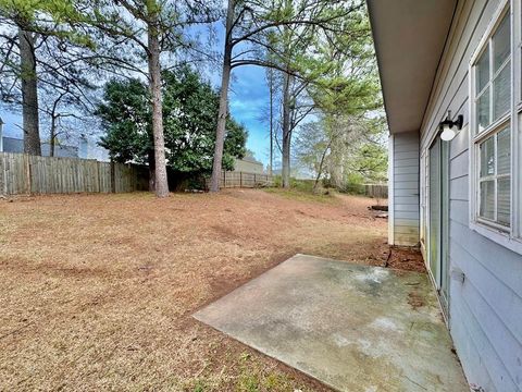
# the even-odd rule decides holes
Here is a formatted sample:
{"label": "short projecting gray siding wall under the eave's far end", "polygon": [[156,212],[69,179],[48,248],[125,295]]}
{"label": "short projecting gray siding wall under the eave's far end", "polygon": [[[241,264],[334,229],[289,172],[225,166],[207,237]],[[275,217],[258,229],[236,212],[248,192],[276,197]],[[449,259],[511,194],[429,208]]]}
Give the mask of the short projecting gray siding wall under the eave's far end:
{"label": "short projecting gray siding wall under the eave's far end", "polygon": [[393,245],[419,244],[419,133],[390,136],[390,230]]}

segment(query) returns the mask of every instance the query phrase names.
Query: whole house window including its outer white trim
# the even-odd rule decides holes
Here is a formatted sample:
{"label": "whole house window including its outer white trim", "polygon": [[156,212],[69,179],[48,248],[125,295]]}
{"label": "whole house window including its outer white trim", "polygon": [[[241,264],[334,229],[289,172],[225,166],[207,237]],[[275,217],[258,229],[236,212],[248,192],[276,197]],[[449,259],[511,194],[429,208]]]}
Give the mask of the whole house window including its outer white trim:
{"label": "whole house window including its outer white trim", "polygon": [[522,0],[500,0],[470,61],[470,228],[522,255]]}

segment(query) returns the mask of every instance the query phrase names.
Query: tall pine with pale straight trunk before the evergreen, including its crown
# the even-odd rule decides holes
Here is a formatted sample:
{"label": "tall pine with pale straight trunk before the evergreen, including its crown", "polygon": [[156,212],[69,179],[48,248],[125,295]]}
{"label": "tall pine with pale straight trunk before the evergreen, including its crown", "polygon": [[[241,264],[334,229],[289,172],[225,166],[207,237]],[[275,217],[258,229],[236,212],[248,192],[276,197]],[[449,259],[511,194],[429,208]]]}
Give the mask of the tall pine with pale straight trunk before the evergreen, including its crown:
{"label": "tall pine with pale straight trunk before the evergreen, including its crown", "polygon": [[[194,47],[185,29],[213,21],[213,2],[203,0],[96,0],[85,1],[84,23],[97,28],[105,39],[117,42],[124,61],[120,66],[141,73],[150,89],[150,111],[154,147],[154,189],[169,196],[165,135],[162,113],[162,57],[172,59]],[[163,54],[163,56],[162,56]],[[141,66],[141,65],[147,65]]]}

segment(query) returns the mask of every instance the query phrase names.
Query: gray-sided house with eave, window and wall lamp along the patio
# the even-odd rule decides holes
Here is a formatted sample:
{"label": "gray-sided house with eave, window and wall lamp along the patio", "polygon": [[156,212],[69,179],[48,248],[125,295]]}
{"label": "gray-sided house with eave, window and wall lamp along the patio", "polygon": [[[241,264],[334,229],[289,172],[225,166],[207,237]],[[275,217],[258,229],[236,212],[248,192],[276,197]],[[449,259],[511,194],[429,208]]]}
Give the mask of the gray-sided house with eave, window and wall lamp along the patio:
{"label": "gray-sided house with eave, window and wall lamp along the patio", "polygon": [[368,4],[389,243],[421,247],[470,384],[521,391],[522,0]]}

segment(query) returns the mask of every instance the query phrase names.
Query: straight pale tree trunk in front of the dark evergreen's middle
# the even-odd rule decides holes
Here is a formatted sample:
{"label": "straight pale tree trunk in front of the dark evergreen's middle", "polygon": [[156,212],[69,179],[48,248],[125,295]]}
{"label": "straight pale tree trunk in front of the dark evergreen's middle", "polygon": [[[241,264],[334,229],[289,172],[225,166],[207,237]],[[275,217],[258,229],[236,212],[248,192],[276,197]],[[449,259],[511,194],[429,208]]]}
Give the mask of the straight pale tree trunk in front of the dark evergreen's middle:
{"label": "straight pale tree trunk in front of the dark evergreen's middle", "polygon": [[[152,5],[154,7],[154,5]],[[169,196],[166,177],[165,140],[163,136],[163,108],[161,97],[160,41],[157,26],[157,11],[152,11],[152,21],[148,25],[149,87],[152,96],[152,134],[154,137],[156,196]]]}

